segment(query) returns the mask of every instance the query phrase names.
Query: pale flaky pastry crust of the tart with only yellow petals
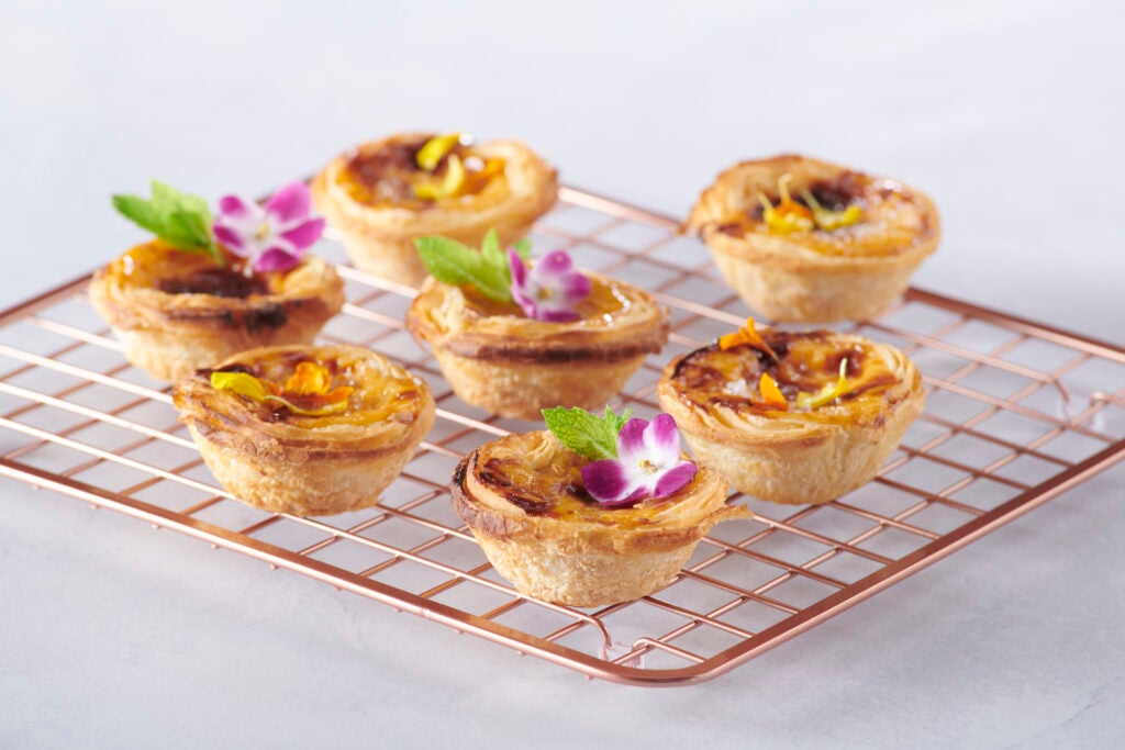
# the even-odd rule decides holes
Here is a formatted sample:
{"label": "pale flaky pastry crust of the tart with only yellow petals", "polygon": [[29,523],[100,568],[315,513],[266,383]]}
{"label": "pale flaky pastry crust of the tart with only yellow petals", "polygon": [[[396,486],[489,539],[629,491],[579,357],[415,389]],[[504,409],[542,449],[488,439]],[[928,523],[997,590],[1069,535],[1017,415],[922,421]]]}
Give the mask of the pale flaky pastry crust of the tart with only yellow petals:
{"label": "pale flaky pastry crust of the tart with only yellow petals", "polygon": [[415,237],[442,235],[476,247],[495,228],[501,244],[507,245],[526,236],[558,198],[552,166],[518,141],[493,141],[472,148],[482,157],[504,160],[503,181],[495,189],[429,202],[356,199],[349,189],[353,159],[398,144],[413,144],[416,152],[432,135],[406,133],[364,143],[334,159],[310,186],[317,210],[340,233],[356,266],[411,287],[426,277]]}

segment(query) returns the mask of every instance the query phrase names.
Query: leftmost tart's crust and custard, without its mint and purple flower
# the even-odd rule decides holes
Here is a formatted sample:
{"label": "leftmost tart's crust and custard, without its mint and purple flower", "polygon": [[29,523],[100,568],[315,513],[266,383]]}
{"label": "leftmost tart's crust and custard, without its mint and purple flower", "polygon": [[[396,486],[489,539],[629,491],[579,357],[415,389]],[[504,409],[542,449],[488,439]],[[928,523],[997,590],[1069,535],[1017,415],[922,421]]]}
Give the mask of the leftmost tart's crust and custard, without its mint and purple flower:
{"label": "leftmost tart's crust and custard, without its mint and purple flower", "polygon": [[128,361],[165,381],[246,349],[309,344],[343,306],[343,281],[314,255],[267,273],[225,257],[219,268],[154,240],[94,273],[90,302]]}

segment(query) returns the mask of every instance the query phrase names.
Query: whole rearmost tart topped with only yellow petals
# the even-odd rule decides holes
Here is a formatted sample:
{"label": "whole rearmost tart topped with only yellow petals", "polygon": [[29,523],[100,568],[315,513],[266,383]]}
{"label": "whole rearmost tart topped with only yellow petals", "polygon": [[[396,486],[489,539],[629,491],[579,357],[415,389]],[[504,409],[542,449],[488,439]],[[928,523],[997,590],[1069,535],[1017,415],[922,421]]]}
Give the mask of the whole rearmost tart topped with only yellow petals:
{"label": "whole rearmost tart topped with only yellow petals", "polygon": [[364,143],[314,180],[316,206],[362,271],[417,287],[414,238],[479,245],[489,227],[515,242],[558,197],[555,169],[516,141],[405,133]]}

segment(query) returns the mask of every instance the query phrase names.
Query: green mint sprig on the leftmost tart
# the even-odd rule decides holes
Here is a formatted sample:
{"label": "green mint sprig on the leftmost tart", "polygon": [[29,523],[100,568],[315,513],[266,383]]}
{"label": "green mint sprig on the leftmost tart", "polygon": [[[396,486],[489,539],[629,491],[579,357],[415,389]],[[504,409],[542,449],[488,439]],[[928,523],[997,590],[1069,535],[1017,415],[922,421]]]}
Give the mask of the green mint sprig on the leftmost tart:
{"label": "green mint sprig on the leftmost tart", "polygon": [[212,234],[210,208],[199,196],[182,193],[153,180],[152,198],[114,196],[114,208],[177,250],[207,253],[219,265],[225,264]]}

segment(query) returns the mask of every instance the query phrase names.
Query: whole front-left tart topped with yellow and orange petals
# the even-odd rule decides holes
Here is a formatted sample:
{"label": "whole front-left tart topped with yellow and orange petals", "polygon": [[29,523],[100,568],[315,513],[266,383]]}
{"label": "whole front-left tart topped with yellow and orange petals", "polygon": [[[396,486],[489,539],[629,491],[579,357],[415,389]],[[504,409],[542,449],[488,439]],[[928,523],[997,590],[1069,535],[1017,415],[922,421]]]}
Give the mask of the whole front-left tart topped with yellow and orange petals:
{"label": "whole front-left tart topped with yellow and orange petals", "polygon": [[173,400],[223,487],[300,516],[376,505],[434,421],[424,381],[345,345],[243,352],[180,381]]}

